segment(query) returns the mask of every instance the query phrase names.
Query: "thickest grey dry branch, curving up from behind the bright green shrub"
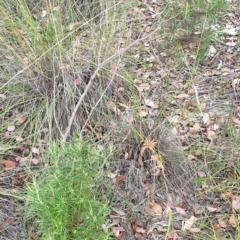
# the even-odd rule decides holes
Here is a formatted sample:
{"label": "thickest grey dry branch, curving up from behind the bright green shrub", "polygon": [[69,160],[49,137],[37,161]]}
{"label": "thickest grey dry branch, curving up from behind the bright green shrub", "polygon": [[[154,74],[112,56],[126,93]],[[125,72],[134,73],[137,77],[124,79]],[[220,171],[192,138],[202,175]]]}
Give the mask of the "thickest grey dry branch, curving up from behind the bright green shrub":
{"label": "thickest grey dry branch, curving up from behind the bright green shrub", "polygon": [[110,61],[112,61],[115,57],[117,56],[120,56],[121,54],[125,53],[128,49],[130,49],[132,46],[136,45],[138,42],[140,41],[143,41],[147,38],[149,38],[150,36],[154,35],[162,26],[163,23],[165,22],[168,22],[169,20],[175,18],[176,16],[174,17],[171,17],[169,18],[168,20],[165,20],[165,21],[162,21],[160,24],[159,24],[159,27],[157,27],[154,31],[152,31],[149,35],[145,36],[145,37],[142,37],[142,38],[138,38],[137,40],[135,40],[134,42],[132,42],[131,44],[129,44],[127,47],[123,48],[123,49],[120,49],[119,51],[117,51],[115,54],[113,54],[112,56],[110,56],[109,58],[107,58],[105,61],[103,61],[98,67],[97,69],[95,70],[95,72],[92,74],[92,76],[90,77],[90,80],[86,86],[86,89],[84,90],[83,94],[81,95],[77,105],[75,106],[73,112],[72,112],[72,115],[70,117],[70,120],[69,120],[69,123],[68,123],[68,126],[67,126],[67,129],[63,135],[63,138],[62,138],[62,141],[65,142],[67,140],[67,137],[69,135],[69,132],[71,130],[71,127],[72,127],[72,124],[73,124],[73,120],[75,118],[75,115],[77,113],[77,110],[78,108],[80,107],[83,99],[85,98],[90,86],[92,85],[92,82],[93,80],[95,79],[95,77],[97,76],[98,72],[107,64],[109,63]]}

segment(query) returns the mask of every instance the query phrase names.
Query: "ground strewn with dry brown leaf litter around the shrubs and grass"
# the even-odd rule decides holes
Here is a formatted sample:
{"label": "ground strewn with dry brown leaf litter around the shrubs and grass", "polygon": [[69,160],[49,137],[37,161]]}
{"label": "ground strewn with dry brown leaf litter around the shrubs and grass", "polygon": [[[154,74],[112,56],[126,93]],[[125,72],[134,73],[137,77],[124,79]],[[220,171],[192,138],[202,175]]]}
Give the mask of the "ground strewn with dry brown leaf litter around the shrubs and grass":
{"label": "ground strewn with dry brown leaf litter around the shrubs and grass", "polygon": [[[115,188],[109,219],[116,239],[238,239],[239,151],[234,148],[237,136],[231,135],[231,126],[239,132],[239,7],[232,1],[215,25],[224,36],[212,39],[209,56],[197,72],[192,53],[197,32],[192,39],[182,40],[185,62],[179,68],[161,47],[162,39],[141,43],[144,52],[136,46],[135,84],[143,99],[139,107],[143,121],[129,121],[132,113],[126,108],[121,112],[127,137],[119,144],[118,160],[106,171]],[[139,5],[149,23],[145,31],[153,31],[151,18],[157,10],[156,1]],[[144,67],[138,64],[143,61]],[[132,143],[131,128],[144,136],[145,148],[140,140]],[[14,130],[9,127],[5,135]],[[158,147],[164,170],[159,158],[152,157],[152,149]],[[41,153],[28,143],[15,150],[21,157],[4,156],[2,189],[18,191],[29,180],[24,167],[29,152],[37,169]],[[218,186],[226,181],[234,184],[220,191]],[[25,239],[20,206],[21,200],[0,192],[1,239]],[[34,233],[32,239],[38,239]]]}

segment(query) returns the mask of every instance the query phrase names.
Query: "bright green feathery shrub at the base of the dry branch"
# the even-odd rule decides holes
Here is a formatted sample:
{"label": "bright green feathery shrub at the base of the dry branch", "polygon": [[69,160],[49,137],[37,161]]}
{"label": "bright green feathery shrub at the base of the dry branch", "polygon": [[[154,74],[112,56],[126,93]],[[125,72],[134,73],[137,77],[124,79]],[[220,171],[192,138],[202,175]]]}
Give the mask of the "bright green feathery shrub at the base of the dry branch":
{"label": "bright green feathery shrub at the base of the dry branch", "polygon": [[108,203],[98,189],[104,156],[79,141],[50,151],[49,167],[27,185],[27,225],[32,222],[41,239],[110,239],[102,228]]}

